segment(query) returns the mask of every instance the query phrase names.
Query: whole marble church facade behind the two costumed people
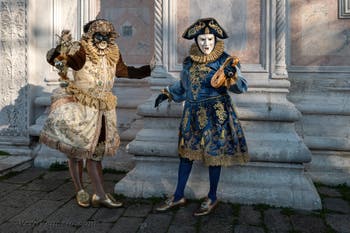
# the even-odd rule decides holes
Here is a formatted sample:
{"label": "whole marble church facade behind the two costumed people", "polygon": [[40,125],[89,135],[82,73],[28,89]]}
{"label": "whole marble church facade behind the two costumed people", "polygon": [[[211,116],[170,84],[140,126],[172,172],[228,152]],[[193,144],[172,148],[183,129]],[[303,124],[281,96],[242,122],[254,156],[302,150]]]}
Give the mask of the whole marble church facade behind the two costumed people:
{"label": "whole marble church facade behind the two costumed people", "polygon": [[[62,29],[79,39],[82,26],[96,17],[114,23],[127,64],[156,59],[151,77],[115,82],[124,144],[104,165],[130,170],[116,193],[172,192],[182,105],[155,109],[153,101],[178,79],[190,46],[181,34],[202,17],[215,17],[227,30],[226,50],[240,57],[250,87],[232,97],[252,160],[224,169],[220,198],[317,209],[311,179],[350,183],[347,0],[0,0],[0,150],[27,156],[35,166],[64,161],[37,143],[50,93],[58,87],[45,54]],[[195,167],[186,195],[198,198],[208,184],[206,169]]]}

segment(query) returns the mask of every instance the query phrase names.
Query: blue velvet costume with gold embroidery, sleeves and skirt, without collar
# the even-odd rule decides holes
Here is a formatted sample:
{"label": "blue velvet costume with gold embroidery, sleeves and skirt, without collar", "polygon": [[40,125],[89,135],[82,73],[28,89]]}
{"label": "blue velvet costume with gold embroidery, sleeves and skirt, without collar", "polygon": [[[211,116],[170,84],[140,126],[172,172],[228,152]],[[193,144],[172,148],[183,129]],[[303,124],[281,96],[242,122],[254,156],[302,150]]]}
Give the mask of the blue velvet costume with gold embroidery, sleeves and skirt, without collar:
{"label": "blue velvet costume with gold embroidery, sleeves and skirt, without collar", "polygon": [[223,52],[215,61],[206,63],[186,58],[181,79],[168,87],[174,101],[185,101],[179,128],[179,156],[202,160],[207,166],[229,166],[249,160],[244,133],[228,94],[247,91],[246,80],[238,70],[233,86],[210,85],[211,77],[228,56]]}

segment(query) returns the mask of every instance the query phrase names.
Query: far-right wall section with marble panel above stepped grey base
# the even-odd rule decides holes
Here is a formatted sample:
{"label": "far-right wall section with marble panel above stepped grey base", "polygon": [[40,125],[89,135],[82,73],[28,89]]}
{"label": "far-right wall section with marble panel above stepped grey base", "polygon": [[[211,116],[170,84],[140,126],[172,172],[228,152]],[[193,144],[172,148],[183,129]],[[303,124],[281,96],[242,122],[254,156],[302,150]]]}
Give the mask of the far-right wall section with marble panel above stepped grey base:
{"label": "far-right wall section with marble panel above stepped grey base", "polygon": [[311,149],[308,170],[329,184],[350,182],[350,19],[332,0],[290,1],[289,99]]}

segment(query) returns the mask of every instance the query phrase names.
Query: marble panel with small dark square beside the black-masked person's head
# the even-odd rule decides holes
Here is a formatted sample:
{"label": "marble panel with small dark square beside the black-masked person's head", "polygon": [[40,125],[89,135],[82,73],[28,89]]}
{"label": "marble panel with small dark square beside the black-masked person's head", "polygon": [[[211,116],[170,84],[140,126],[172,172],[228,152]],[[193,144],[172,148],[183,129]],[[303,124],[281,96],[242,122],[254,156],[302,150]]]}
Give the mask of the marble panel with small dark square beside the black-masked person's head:
{"label": "marble panel with small dark square beside the black-masked person's head", "polygon": [[127,64],[148,64],[154,51],[154,1],[101,0],[98,18],[110,20],[123,60]]}

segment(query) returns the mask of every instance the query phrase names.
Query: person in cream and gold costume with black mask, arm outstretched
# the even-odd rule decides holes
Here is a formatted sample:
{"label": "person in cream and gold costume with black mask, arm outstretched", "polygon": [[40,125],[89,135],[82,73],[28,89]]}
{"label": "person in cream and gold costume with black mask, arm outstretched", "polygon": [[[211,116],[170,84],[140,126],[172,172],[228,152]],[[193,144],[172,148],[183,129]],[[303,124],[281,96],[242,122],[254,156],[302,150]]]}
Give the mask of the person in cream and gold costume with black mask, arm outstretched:
{"label": "person in cream and gold costume with black mask, arm outstretched", "polygon": [[[68,156],[69,171],[80,206],[116,208],[116,201],[103,187],[101,160],[113,156],[119,147],[116,106],[112,88],[115,77],[144,78],[151,68],[125,65],[115,43],[118,34],[112,23],[97,19],[84,26],[80,41],[62,32],[62,43],[48,51],[47,61],[59,69],[64,85],[52,94],[51,108],[40,141]],[[66,77],[71,68],[73,79]],[[84,190],[83,159],[94,194]]]}

